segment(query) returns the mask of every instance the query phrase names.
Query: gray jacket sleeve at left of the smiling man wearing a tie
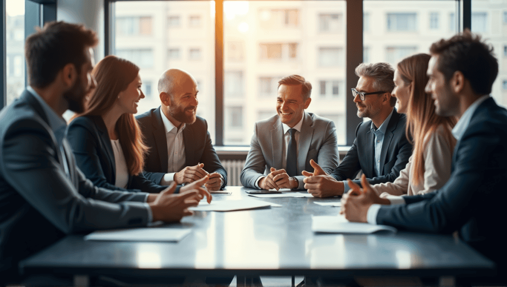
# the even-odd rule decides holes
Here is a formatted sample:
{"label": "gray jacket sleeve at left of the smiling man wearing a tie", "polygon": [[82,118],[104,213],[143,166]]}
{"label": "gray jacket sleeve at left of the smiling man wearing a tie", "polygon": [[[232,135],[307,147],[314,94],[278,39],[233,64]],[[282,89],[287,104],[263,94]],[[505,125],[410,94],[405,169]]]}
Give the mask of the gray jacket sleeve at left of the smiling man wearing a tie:
{"label": "gray jacket sleeve at left of the smiling man wearing a tie", "polygon": [[256,188],[255,182],[257,178],[264,176],[264,170],[266,169],[266,160],[262,152],[261,146],[259,145],[259,139],[257,137],[257,123],[253,129],[252,139],[250,141],[250,151],[246,156],[245,166],[241,171],[240,180],[244,187]]}

